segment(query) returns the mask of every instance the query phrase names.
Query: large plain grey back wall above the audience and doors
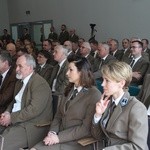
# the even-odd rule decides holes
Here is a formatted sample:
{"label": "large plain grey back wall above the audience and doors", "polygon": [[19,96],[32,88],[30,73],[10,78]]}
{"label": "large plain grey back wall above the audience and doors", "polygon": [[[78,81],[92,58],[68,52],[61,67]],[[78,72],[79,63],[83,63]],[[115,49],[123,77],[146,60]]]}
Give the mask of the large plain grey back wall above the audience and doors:
{"label": "large plain grey back wall above the audience and doors", "polygon": [[[138,36],[150,39],[150,0],[8,0],[10,23],[53,20],[74,27],[86,40],[90,23],[96,24],[96,39],[121,40]],[[25,11],[30,10],[31,15]]]}

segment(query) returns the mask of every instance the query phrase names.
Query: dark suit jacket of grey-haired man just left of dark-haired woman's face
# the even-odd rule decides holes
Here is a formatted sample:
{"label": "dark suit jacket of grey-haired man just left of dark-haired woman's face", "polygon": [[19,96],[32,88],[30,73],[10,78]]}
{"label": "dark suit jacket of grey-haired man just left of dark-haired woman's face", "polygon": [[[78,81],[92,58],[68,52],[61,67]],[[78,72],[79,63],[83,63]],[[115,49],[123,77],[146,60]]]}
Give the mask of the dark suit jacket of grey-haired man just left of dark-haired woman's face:
{"label": "dark suit jacket of grey-haired man just left of dark-haired woman's face", "polygon": [[56,81],[56,85],[55,85],[55,89],[56,89],[55,95],[63,94],[65,87],[69,83],[68,78],[66,76],[67,70],[68,70],[68,61],[67,60],[62,65],[58,75],[57,75],[58,65],[54,66],[54,68],[53,68],[49,84],[50,84],[50,87],[52,88],[53,81],[57,77],[57,81]]}

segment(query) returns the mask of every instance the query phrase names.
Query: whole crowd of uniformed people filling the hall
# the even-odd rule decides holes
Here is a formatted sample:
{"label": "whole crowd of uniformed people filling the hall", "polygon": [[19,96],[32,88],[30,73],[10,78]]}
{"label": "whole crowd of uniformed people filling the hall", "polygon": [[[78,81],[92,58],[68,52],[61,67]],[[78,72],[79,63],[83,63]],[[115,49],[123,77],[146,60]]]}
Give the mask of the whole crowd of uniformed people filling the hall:
{"label": "whole crowd of uniformed people filling the hall", "polygon": [[[150,49],[132,37],[85,41],[67,31],[41,28],[41,49],[28,29],[0,39],[0,134],[4,150],[150,148]],[[96,82],[101,83],[102,91]],[[129,87],[139,89],[131,96]]]}

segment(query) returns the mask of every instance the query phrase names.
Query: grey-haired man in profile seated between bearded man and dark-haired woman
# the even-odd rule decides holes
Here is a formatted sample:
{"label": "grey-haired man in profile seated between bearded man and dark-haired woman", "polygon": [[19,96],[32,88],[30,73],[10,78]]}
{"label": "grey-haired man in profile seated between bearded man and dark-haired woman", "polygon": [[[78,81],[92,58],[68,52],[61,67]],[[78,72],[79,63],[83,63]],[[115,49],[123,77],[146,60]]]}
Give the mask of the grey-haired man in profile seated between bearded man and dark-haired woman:
{"label": "grey-haired man in profile seated between bearded man and dark-haired woman", "polygon": [[58,45],[54,48],[54,60],[58,62],[54,66],[51,78],[49,81],[50,87],[53,92],[53,113],[57,110],[57,104],[59,97],[64,93],[64,89],[68,85],[68,79],[66,72],[68,69],[68,50],[62,45]]}

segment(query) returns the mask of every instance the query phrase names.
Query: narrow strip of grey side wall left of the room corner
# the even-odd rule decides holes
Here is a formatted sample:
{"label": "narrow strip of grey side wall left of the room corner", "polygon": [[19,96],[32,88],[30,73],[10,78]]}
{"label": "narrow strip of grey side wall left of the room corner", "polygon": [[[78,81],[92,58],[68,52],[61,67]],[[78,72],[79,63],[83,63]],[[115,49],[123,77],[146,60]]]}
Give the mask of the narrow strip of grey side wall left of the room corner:
{"label": "narrow strip of grey side wall left of the room corner", "polygon": [[3,33],[3,29],[6,28],[9,31],[9,17],[7,0],[0,0],[0,35]]}

